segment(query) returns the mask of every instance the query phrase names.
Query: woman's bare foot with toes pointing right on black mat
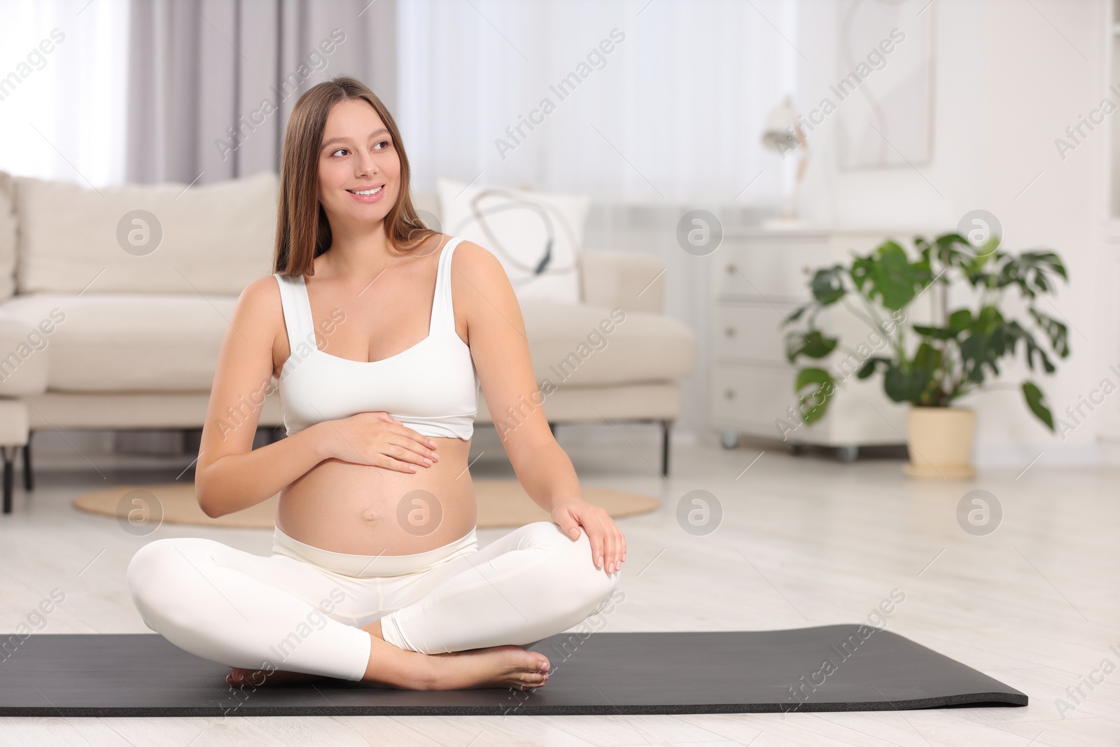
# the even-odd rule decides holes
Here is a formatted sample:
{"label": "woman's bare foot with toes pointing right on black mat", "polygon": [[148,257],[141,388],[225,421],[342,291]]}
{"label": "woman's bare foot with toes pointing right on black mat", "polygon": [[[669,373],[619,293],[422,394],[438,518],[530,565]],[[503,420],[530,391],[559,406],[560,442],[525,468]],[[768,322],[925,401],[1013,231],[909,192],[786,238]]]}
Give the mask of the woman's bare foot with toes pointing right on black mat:
{"label": "woman's bare foot with toes pointing right on black mat", "polygon": [[535,690],[549,681],[544,654],[521,646],[494,646],[426,656],[429,690],[515,688]]}

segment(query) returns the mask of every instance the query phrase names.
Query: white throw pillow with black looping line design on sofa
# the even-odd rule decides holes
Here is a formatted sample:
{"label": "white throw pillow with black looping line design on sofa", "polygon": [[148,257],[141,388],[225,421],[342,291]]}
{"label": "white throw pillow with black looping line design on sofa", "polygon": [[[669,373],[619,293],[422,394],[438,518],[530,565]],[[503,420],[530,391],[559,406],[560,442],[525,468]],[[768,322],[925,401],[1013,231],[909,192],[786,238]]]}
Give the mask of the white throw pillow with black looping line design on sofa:
{"label": "white throw pillow with black looping line design on sofa", "polygon": [[517,300],[579,304],[579,252],[590,198],[505,187],[468,187],[439,178],[444,233],[491,251]]}

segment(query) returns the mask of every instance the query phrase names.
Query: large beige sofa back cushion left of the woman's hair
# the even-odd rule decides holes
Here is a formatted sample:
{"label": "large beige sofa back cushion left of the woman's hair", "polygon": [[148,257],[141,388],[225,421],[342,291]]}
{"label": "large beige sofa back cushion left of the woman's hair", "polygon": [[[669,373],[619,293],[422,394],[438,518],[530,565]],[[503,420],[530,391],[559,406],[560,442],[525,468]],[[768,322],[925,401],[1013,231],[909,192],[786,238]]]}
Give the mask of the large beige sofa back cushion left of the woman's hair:
{"label": "large beige sofa back cushion left of the woman's hair", "polygon": [[189,188],[16,177],[17,292],[236,297],[272,271],[278,188],[271,171]]}

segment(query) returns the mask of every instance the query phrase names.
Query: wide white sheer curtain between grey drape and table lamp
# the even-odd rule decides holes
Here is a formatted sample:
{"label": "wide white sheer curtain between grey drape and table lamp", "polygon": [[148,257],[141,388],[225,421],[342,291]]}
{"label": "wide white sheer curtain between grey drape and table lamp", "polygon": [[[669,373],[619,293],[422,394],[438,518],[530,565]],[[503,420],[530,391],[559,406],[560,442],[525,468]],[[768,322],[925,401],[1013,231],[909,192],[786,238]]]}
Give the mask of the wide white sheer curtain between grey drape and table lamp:
{"label": "wide white sheer curtain between grey drape and table lamp", "polygon": [[[794,159],[760,134],[794,93],[797,4],[404,0],[394,116],[413,189],[477,177],[628,204],[775,204]],[[571,73],[578,85],[558,93]],[[544,99],[554,109],[530,130]]]}

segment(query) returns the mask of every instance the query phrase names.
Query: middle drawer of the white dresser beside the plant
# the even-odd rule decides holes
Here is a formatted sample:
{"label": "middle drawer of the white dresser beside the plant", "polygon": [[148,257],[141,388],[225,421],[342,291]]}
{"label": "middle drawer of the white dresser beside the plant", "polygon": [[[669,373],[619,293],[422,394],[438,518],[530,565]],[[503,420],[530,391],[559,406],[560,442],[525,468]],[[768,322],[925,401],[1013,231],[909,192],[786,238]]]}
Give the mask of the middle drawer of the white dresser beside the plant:
{"label": "middle drawer of the white dresser beside the plant", "polygon": [[763,362],[788,365],[785,335],[797,326],[782,326],[797,304],[741,301],[717,304],[712,351],[717,361]]}

